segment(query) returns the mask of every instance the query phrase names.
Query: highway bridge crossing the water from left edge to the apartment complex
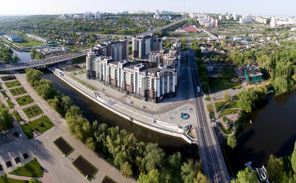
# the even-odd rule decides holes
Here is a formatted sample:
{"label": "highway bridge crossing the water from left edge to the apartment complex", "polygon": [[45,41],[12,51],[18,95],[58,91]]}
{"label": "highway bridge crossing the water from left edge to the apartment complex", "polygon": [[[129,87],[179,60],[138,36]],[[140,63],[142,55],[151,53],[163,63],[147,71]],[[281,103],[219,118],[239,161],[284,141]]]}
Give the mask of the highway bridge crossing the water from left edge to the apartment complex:
{"label": "highway bridge crossing the water from left edge to the apartment complex", "polygon": [[42,65],[55,64],[55,63],[58,63],[61,61],[66,61],[66,60],[73,59],[73,58],[76,58],[79,56],[87,55],[87,51],[89,51],[89,49],[78,51],[74,54],[53,56],[50,58],[45,58],[45,59],[41,59],[41,60],[32,60],[32,61],[25,62],[25,63],[0,65],[0,70],[19,70],[19,69],[25,69],[28,67],[38,67],[38,66],[42,66]]}

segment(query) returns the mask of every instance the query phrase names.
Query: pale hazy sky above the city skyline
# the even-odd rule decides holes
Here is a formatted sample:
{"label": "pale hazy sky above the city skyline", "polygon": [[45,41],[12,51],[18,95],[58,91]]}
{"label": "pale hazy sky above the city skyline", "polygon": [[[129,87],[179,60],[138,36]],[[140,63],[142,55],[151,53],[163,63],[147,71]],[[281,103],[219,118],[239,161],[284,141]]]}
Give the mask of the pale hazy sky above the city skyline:
{"label": "pale hazy sky above the city skyline", "polygon": [[[190,6],[191,5],[191,6]],[[190,8],[189,8],[190,6]],[[182,0],[3,0],[0,14],[63,14],[88,12],[184,12]],[[295,0],[186,0],[186,12],[296,16]]]}

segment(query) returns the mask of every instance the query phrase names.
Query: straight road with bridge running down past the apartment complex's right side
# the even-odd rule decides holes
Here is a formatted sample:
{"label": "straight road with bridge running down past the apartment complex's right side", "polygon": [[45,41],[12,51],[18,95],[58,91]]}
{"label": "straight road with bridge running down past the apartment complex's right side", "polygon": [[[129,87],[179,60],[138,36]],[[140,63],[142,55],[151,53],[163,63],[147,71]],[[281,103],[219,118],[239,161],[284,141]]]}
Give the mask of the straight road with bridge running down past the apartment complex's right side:
{"label": "straight road with bridge running down past the apartment complex's right side", "polygon": [[210,121],[210,116],[205,108],[204,95],[202,92],[197,91],[197,86],[201,87],[201,85],[190,40],[187,40],[187,46],[191,68],[191,81],[193,82],[195,97],[192,102],[196,108],[198,120],[194,126],[196,126],[197,129],[198,147],[202,160],[203,173],[209,177],[210,182],[230,182],[220,145],[214,132],[213,123]]}

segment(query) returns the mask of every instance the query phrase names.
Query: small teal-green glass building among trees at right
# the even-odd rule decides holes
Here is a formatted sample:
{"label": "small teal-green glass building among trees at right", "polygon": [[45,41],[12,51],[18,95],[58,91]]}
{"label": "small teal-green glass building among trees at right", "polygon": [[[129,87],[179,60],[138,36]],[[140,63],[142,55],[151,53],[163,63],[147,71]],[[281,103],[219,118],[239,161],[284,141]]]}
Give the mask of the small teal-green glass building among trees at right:
{"label": "small teal-green glass building among trees at right", "polygon": [[261,73],[261,70],[256,63],[250,65],[243,64],[242,66],[239,66],[239,70],[242,71],[242,73],[246,77],[246,82],[249,85],[260,83],[263,81],[263,74]]}

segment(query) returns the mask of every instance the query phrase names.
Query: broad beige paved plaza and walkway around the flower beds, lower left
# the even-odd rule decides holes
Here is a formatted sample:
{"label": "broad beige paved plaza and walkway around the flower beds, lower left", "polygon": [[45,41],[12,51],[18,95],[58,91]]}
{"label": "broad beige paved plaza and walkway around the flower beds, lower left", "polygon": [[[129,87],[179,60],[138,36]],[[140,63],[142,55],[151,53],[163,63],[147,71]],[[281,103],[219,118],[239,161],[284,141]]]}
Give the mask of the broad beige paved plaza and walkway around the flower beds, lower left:
{"label": "broad beige paved plaza and walkway around the flower beds, lower left", "polygon": [[[103,159],[98,158],[85,144],[77,140],[73,135],[70,135],[65,120],[60,118],[57,111],[53,110],[28,84],[25,74],[16,74],[15,76],[38,106],[42,108],[44,114],[51,119],[54,127],[43,134],[28,140],[19,125],[20,123],[14,122],[14,128],[10,129],[10,131],[19,132],[21,137],[14,137],[14,140],[0,145],[0,164],[4,169],[2,173],[9,173],[10,171],[15,170],[16,166],[18,166],[14,161],[14,158],[16,157],[20,158],[21,163],[28,163],[33,157],[36,157],[46,173],[44,174],[46,176],[43,177],[43,183],[85,182],[85,177],[72,165],[73,160],[79,155],[82,155],[99,169],[91,182],[102,182],[105,175],[109,176],[116,182],[136,182],[134,179],[123,177],[120,171]],[[60,136],[62,136],[75,149],[67,158],[65,158],[65,166],[63,165],[62,153],[52,143]],[[46,140],[47,137],[48,140]],[[22,156],[24,153],[27,153],[29,158],[24,159]],[[5,162],[7,161],[11,161],[12,163],[12,166],[9,168],[5,166]]]}

